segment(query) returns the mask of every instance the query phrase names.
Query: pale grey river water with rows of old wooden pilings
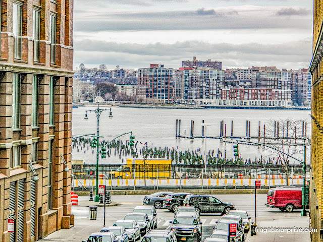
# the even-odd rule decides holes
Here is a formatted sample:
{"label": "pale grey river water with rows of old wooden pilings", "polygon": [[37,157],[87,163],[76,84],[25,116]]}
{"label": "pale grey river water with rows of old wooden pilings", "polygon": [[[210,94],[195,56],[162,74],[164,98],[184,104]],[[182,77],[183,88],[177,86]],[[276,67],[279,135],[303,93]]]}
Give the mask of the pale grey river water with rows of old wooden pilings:
{"label": "pale grey river water with rows of old wooden pilings", "polygon": [[[103,105],[100,108],[106,108]],[[79,107],[73,109],[73,129],[74,137],[84,134],[96,133],[97,120],[95,113],[88,112],[88,120],[84,119],[85,110],[95,109],[95,106]],[[175,138],[176,119],[181,119],[181,135],[190,135],[190,120],[194,120],[194,136],[202,135],[202,119],[204,123],[209,123],[207,127],[207,136],[219,136],[220,122],[224,120],[227,124],[227,136],[231,135],[231,120],[233,120],[233,135],[239,137],[246,136],[246,120],[250,120],[250,136],[258,136],[258,121],[261,122],[261,129],[264,124],[268,124],[270,119],[306,119],[307,136],[310,136],[310,110],[253,110],[253,109],[162,109],[162,108],[128,108],[112,107],[113,118],[109,118],[109,110],[103,111],[100,116],[100,136],[104,140],[112,140],[120,134],[132,131],[135,136],[136,147],[138,150],[146,143],[153,147],[177,148],[181,151],[189,149],[192,151],[198,148],[201,153],[204,151],[204,139],[185,139]],[[124,142],[129,140],[130,135],[120,137]],[[235,140],[233,140],[235,141]],[[256,140],[255,140],[256,141]],[[227,158],[233,158],[233,144],[224,143],[218,139],[207,139],[207,150],[218,149],[224,154],[226,151]],[[302,150],[302,147],[300,147]],[[72,150],[72,159],[83,160],[86,164],[96,162],[95,152],[92,154],[91,149],[84,149],[77,152]],[[310,160],[310,149],[307,148],[306,162]],[[112,152],[113,153],[113,152]],[[257,146],[239,145],[239,153],[244,159],[255,160],[265,156],[273,157],[271,153]],[[303,158],[303,152],[295,155],[298,159]],[[276,155],[277,157],[277,155]],[[224,158],[224,157],[223,157]],[[293,161],[290,161],[294,163]],[[106,159],[100,160],[100,163],[120,164],[118,156],[112,155]],[[296,162],[297,163],[297,162]]]}

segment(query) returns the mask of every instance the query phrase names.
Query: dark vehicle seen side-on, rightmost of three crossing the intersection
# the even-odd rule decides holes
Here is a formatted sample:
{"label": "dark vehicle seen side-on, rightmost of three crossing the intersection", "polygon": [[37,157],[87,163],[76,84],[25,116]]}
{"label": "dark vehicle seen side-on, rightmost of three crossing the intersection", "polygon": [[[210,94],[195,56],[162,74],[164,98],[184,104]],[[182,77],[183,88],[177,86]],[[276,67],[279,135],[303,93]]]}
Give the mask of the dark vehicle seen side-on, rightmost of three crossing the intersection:
{"label": "dark vehicle seen side-on, rightmost of three crossing the intersection", "polygon": [[211,195],[190,195],[184,199],[184,206],[195,207],[198,213],[221,213],[229,214],[231,210],[235,210],[232,203],[222,202]]}

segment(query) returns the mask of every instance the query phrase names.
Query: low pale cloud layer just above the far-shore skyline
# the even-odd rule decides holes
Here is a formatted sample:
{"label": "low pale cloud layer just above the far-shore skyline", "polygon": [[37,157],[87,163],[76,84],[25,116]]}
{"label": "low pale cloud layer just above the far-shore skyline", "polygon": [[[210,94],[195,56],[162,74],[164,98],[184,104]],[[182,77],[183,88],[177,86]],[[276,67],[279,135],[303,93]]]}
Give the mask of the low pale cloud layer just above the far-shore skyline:
{"label": "low pale cloud layer just above the far-shore skyline", "polygon": [[[287,69],[307,68],[311,57],[311,41],[283,44],[210,44],[203,41],[183,41],[174,44],[135,44],[109,41],[75,41],[75,64],[144,68],[150,63],[164,63],[179,68],[181,61],[197,56],[223,62],[224,68],[277,66]],[[85,61],[86,60],[86,61]]]}

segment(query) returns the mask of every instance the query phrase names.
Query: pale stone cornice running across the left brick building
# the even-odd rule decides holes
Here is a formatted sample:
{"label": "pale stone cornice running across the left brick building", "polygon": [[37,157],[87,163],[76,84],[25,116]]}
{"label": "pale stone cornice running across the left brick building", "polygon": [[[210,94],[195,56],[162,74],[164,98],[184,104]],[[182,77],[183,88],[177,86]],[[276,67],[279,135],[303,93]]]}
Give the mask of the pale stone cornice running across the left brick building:
{"label": "pale stone cornice running across the left brick building", "polygon": [[0,63],[0,71],[15,72],[15,73],[28,73],[34,75],[48,75],[48,76],[62,76],[73,77],[74,71],[53,69],[46,67],[32,67],[27,65],[19,65],[13,63]]}

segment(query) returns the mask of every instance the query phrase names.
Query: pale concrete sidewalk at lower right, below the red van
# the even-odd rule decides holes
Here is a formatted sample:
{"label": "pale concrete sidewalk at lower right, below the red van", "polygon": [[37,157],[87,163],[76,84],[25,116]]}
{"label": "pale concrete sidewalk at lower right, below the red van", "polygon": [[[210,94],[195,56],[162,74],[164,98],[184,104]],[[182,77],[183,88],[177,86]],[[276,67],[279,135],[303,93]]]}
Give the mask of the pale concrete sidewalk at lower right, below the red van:
{"label": "pale concrete sidewalk at lower right, below the red van", "polygon": [[[303,231],[295,231],[301,228]],[[246,238],[246,242],[310,242],[308,217],[279,216],[257,218],[257,235]]]}

